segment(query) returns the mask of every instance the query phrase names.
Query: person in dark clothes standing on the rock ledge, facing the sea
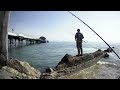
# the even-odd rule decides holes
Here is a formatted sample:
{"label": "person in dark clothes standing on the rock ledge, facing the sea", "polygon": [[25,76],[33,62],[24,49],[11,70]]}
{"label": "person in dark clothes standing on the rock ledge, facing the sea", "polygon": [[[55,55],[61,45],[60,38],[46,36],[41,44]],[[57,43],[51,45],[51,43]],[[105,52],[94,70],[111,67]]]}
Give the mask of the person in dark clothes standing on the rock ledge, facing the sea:
{"label": "person in dark clothes standing on the rock ledge, facing the sea", "polygon": [[[83,55],[83,49],[82,49],[82,39],[84,38],[83,34],[80,32],[80,29],[77,29],[77,33],[75,34],[75,41],[76,41],[76,47],[78,50],[77,56]],[[81,51],[81,54],[80,54]]]}

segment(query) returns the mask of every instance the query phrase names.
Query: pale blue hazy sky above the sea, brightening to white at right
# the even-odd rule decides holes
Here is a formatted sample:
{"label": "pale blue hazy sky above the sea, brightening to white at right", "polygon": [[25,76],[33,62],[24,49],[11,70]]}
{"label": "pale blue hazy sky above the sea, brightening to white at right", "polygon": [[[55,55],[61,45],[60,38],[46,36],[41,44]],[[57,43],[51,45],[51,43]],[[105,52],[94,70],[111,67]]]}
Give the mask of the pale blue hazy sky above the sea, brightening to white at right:
{"label": "pale blue hazy sky above the sea, brightening to white at right", "polygon": [[[120,11],[71,11],[93,28],[105,41],[120,42]],[[9,32],[34,38],[45,36],[49,41],[74,41],[79,28],[84,41],[102,40],[67,11],[11,11]]]}

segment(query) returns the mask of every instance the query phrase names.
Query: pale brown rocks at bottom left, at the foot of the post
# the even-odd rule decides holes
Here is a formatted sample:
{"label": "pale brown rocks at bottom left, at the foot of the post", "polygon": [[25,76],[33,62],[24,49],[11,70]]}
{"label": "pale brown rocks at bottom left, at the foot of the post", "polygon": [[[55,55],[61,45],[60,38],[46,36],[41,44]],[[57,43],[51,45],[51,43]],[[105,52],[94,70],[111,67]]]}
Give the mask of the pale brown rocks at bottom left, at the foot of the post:
{"label": "pale brown rocks at bottom left, at the foot of the post", "polygon": [[0,79],[40,79],[41,72],[27,62],[9,59],[6,66],[0,68]]}

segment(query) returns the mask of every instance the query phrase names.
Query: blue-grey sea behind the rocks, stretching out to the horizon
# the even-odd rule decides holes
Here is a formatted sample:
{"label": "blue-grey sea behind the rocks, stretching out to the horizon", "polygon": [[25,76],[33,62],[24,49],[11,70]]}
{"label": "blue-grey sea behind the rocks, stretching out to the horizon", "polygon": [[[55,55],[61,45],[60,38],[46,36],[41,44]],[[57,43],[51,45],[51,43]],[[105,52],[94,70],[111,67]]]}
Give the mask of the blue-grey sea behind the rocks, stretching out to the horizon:
{"label": "blue-grey sea behind the rocks, stretching out to the horizon", "polygon": [[[116,53],[120,56],[120,43],[109,43],[115,47]],[[107,49],[108,46],[97,42],[83,42],[83,53],[91,53],[98,49]],[[23,47],[9,48],[9,58],[17,58],[27,61],[31,66],[44,71],[47,67],[54,67],[61,61],[65,54],[76,55],[75,42],[49,42]],[[120,61],[114,53],[108,60]]]}

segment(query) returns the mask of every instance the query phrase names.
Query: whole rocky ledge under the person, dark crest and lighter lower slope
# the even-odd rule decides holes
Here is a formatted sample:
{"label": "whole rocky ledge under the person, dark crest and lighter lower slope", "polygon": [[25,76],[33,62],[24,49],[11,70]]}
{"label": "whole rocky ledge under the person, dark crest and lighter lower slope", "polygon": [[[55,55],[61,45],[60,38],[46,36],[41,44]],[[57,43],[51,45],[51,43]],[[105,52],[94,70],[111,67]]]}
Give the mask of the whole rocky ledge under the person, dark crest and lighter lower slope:
{"label": "whole rocky ledge under the person, dark crest and lighter lower slope", "polygon": [[66,75],[71,75],[96,64],[101,58],[106,56],[108,54],[102,50],[84,54],[83,56],[66,54],[55,68],[46,69],[46,72],[41,75],[41,79],[62,79]]}

